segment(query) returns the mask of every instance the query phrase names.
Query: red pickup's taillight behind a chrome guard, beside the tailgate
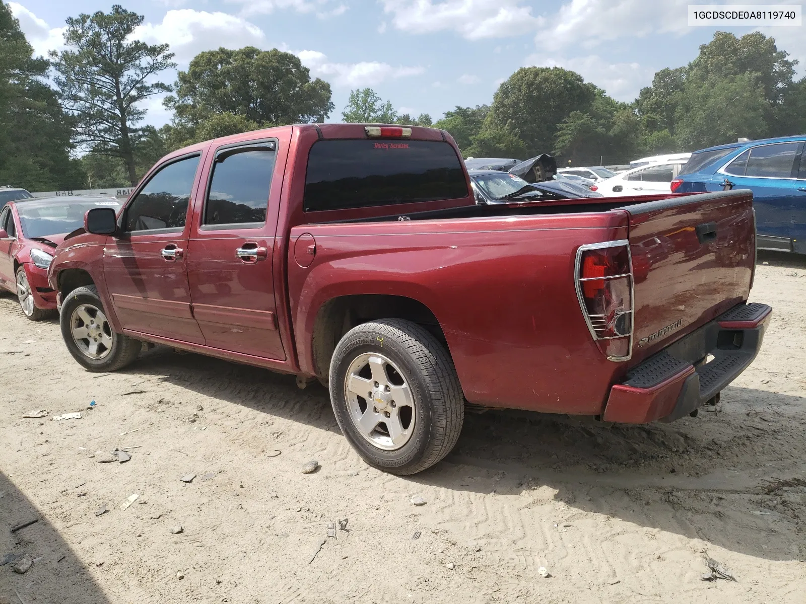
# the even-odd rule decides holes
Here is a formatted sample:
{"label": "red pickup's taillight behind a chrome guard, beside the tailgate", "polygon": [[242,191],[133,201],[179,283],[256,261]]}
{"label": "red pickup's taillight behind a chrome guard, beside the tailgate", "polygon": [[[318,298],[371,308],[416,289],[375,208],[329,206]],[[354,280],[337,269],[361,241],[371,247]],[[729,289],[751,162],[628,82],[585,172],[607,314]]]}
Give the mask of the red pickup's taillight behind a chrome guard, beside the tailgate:
{"label": "red pickup's taillight behind a chrome guard, beside the tailgate", "polygon": [[576,253],[576,292],[593,339],[611,361],[633,349],[633,266],[629,242],[592,243]]}

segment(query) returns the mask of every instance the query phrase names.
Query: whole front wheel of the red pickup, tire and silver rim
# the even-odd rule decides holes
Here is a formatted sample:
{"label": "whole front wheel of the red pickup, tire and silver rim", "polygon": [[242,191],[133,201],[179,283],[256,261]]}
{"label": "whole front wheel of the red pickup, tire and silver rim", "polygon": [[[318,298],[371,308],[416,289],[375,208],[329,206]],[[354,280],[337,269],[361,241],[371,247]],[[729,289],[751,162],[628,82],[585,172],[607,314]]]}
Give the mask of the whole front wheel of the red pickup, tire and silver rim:
{"label": "whole front wheel of the red pickup, tire and silver rim", "polygon": [[123,369],[143,347],[139,340],[114,332],[94,285],[76,288],[64,298],[60,326],[67,350],[90,371]]}

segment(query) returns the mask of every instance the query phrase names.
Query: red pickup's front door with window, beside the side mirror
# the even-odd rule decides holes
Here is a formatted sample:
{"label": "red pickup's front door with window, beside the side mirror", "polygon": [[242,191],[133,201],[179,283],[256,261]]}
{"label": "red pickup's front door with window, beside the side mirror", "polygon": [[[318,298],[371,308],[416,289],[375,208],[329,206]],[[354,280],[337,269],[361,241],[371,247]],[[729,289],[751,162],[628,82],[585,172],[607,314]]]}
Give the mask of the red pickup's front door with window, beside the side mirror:
{"label": "red pickup's front door with window, beside the side mirror", "polygon": [[200,155],[160,168],[123,211],[104,249],[104,275],[123,329],[203,344],[190,310],[189,203]]}

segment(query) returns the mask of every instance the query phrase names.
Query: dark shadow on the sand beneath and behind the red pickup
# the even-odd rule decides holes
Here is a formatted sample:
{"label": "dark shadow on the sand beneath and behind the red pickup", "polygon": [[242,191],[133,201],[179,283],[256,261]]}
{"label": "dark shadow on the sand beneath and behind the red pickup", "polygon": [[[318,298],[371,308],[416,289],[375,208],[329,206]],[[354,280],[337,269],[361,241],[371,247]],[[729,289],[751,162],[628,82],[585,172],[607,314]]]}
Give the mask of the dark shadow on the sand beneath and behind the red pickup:
{"label": "dark shadow on the sand beneath and behind the red pickup", "polygon": [[[301,391],[292,376],[159,348],[130,371],[340,433],[327,391],[318,384]],[[797,481],[806,478],[800,424],[806,399],[729,387],[722,401],[718,413],[636,426],[466,413],[453,452],[401,479],[455,496],[525,490],[545,496],[547,487],[549,500],[567,504],[569,514],[609,515],[767,560],[803,560],[806,482]],[[520,502],[513,498],[512,505],[529,507]]]}

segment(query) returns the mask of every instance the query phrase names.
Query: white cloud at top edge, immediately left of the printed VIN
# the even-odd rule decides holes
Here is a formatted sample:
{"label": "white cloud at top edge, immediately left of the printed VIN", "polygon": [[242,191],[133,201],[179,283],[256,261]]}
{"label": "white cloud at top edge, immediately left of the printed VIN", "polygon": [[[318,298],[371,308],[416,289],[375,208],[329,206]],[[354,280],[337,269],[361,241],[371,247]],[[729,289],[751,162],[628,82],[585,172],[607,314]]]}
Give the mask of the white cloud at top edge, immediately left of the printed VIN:
{"label": "white cloud at top edge, immediately left of the printed VIN", "polygon": [[538,48],[594,48],[620,38],[683,35],[691,31],[688,4],[689,0],[571,0],[542,22],[535,43]]}

